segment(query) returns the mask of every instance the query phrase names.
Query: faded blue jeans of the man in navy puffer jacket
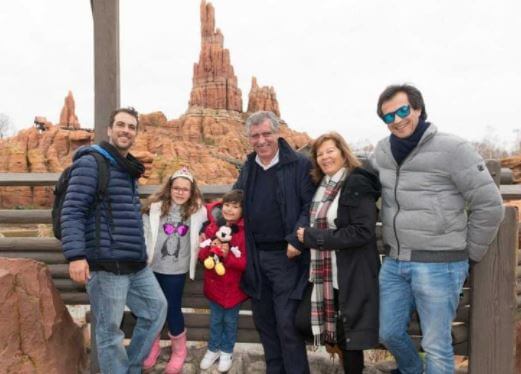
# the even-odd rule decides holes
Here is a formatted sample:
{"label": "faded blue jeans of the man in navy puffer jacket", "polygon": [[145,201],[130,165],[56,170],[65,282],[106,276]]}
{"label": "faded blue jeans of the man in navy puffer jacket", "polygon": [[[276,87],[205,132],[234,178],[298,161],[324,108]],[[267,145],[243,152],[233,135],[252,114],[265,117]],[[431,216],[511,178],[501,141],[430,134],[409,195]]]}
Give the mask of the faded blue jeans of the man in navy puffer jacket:
{"label": "faded blue jeans of the man in navy puffer jacket", "polygon": [[[145,267],[134,274],[116,275],[93,271],[87,283],[91,311],[96,323],[96,343],[104,374],[141,373],[141,363],[166,318],[166,299],[152,271]],[[123,346],[120,329],[125,305],[137,321],[130,345]]]}

